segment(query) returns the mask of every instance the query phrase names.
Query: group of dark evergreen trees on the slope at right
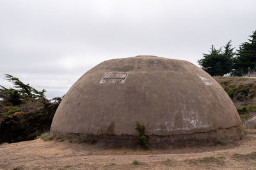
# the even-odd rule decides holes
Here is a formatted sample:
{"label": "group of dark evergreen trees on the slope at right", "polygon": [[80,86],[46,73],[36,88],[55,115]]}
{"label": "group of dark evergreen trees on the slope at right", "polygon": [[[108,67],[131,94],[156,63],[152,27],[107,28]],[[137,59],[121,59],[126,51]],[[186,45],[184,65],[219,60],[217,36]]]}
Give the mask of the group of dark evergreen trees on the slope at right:
{"label": "group of dark evergreen trees on the slope at right", "polygon": [[249,37],[238,50],[232,47],[231,40],[219,49],[212,45],[209,53],[203,53],[203,58],[197,61],[198,64],[211,76],[226,73],[241,76],[242,72],[247,73],[248,67],[256,71],[256,31]]}

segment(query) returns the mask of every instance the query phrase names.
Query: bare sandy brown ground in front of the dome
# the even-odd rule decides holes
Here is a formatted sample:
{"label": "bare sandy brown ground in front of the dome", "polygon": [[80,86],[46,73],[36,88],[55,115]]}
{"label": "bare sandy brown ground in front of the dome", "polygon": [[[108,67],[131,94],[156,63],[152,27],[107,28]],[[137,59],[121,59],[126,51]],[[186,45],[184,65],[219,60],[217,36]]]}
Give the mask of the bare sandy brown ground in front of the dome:
{"label": "bare sandy brown ground in front of the dome", "polygon": [[0,145],[0,169],[256,169],[252,152],[256,131],[226,145],[148,150],[35,139]]}

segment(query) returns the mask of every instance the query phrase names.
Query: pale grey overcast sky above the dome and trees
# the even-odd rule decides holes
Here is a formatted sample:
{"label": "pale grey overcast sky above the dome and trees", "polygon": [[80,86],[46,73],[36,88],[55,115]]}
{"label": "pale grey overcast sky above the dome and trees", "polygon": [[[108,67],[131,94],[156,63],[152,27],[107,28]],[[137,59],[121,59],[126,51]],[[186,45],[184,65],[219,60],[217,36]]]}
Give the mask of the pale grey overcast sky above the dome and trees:
{"label": "pale grey overcast sky above the dome and trees", "polygon": [[17,76],[63,96],[104,60],[157,55],[196,64],[256,30],[255,0],[0,0],[0,85]]}

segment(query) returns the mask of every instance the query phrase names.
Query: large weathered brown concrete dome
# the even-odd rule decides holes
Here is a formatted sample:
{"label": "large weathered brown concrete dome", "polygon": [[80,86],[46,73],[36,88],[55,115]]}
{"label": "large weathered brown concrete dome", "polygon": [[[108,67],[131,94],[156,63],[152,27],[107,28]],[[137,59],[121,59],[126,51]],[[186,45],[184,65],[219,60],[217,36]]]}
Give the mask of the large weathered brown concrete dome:
{"label": "large weathered brown concrete dome", "polygon": [[230,97],[185,60],[136,56],[106,60],[72,85],[51,134],[133,141],[136,120],[151,143],[212,143],[241,137]]}

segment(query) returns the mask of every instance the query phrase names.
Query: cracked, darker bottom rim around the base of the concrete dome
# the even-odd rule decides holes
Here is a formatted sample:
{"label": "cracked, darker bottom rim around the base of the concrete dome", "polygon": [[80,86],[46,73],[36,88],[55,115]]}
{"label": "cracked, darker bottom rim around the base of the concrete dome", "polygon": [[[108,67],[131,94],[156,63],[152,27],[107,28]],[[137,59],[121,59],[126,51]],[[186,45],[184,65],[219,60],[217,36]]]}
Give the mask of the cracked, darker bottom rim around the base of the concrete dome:
{"label": "cracked, darker bottom rim around the base of the concrete dome", "polygon": [[[138,139],[132,135],[111,135],[111,134],[82,134],[82,133],[67,133],[67,132],[50,132],[53,136],[63,138],[81,138],[92,137],[99,142],[111,144],[112,146],[137,146]],[[162,147],[166,145],[216,145],[216,143],[230,143],[237,139],[241,139],[244,134],[242,125],[230,127],[227,129],[216,129],[208,132],[195,132],[193,134],[173,134],[167,136],[150,135],[149,145],[154,147]]]}

